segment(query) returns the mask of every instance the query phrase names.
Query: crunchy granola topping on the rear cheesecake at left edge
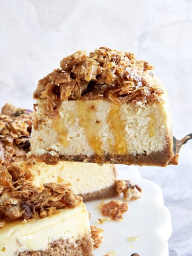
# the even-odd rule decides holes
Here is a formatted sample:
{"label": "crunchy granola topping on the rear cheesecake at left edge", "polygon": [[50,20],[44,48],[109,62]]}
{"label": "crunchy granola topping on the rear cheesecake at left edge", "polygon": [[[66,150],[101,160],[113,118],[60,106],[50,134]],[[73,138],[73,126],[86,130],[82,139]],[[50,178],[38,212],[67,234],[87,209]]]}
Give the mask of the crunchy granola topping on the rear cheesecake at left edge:
{"label": "crunchy granola topping on the rear cheesecake at left edge", "polygon": [[6,104],[0,114],[0,164],[7,166],[13,156],[24,156],[29,150],[32,111]]}

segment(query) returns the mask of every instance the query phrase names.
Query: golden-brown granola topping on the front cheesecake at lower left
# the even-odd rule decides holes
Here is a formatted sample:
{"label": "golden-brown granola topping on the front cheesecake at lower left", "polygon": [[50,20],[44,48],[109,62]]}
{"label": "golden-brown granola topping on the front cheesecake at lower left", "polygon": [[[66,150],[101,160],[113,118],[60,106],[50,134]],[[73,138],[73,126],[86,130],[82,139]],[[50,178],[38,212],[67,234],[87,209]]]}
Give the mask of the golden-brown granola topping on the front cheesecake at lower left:
{"label": "golden-brown granola topping on the front cheesecake at lower left", "polygon": [[[33,186],[30,178],[30,172],[15,163],[7,168],[0,165],[0,219],[44,218],[82,202],[67,186],[46,183],[41,190]],[[0,227],[4,223],[1,221]]]}

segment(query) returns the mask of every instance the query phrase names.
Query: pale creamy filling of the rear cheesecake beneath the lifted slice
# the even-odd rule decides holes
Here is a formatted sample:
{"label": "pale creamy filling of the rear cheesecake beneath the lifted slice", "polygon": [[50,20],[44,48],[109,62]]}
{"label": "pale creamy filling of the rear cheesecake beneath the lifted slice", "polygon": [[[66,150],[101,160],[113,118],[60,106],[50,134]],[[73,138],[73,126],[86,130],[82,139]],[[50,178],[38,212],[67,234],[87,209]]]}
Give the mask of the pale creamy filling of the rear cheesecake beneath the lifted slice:
{"label": "pale creamy filling of the rear cheesecake beneath the lifted slice", "polygon": [[[19,164],[25,167],[25,162]],[[60,161],[56,165],[34,162],[29,170],[33,175],[33,184],[37,187],[47,182],[69,184],[75,194],[83,195],[112,186],[116,181],[114,168],[113,164],[99,166],[96,163]]]}

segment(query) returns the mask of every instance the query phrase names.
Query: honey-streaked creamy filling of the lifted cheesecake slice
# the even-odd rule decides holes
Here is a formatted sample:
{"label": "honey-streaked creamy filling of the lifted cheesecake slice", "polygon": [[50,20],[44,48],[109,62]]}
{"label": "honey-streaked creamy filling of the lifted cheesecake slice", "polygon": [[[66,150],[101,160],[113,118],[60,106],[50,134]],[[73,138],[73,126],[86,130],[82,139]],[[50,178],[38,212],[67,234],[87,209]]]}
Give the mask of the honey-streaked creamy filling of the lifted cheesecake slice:
{"label": "honey-streaked creamy filling of the lifted cheesecake slice", "polygon": [[171,138],[166,100],[140,105],[106,100],[63,101],[59,115],[52,119],[43,110],[46,100],[38,100],[37,104],[39,124],[32,131],[32,155],[150,154],[163,151],[167,138]]}

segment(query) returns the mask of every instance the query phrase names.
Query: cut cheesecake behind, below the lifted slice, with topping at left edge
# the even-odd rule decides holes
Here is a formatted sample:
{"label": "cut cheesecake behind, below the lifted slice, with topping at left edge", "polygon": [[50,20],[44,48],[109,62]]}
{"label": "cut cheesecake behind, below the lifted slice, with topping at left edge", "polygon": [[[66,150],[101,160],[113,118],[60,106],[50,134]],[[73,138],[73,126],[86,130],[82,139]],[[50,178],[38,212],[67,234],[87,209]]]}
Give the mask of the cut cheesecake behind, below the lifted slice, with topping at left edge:
{"label": "cut cheesecake behind, below the lifted slice, with topping at left edge", "polygon": [[26,158],[30,147],[30,132],[33,115],[30,111],[6,104],[0,115],[0,162],[7,166],[11,162],[27,169],[33,176],[33,185],[43,187],[44,183],[69,184],[74,193],[81,195],[84,202],[113,197],[117,192],[117,171],[115,165],[99,166],[94,163],[58,162],[47,165]]}

